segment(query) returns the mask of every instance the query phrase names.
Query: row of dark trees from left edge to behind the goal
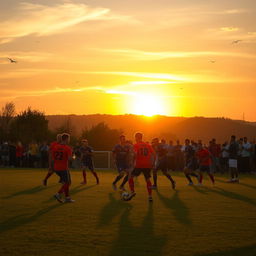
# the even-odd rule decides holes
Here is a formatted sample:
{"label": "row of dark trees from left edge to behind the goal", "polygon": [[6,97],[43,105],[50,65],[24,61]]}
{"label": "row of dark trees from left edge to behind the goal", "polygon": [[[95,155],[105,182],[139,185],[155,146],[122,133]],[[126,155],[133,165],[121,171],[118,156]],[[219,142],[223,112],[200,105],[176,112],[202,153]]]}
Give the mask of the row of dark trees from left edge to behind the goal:
{"label": "row of dark trees from left edge to behind the goal", "polygon": [[6,103],[0,111],[0,142],[51,142],[57,134],[64,132],[71,135],[71,145],[86,138],[94,150],[111,150],[122,134],[121,129],[111,129],[104,122],[84,128],[80,134],[76,134],[70,119],[57,129],[50,130],[44,112],[28,107],[16,113],[13,102]]}

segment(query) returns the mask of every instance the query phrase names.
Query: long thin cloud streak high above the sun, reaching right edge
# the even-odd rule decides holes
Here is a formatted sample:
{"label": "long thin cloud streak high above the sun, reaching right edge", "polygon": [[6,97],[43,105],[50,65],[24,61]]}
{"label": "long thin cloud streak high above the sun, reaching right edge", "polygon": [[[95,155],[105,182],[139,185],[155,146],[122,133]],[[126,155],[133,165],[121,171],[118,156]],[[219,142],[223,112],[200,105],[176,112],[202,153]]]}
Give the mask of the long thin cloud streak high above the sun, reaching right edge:
{"label": "long thin cloud streak high above the sun, reaching right edge", "polygon": [[[100,50],[100,49],[99,49]],[[196,58],[196,57],[212,57],[226,56],[237,58],[255,59],[256,55],[239,52],[221,52],[221,51],[194,51],[194,52],[149,52],[134,49],[101,49],[100,51],[126,56],[135,60],[163,60],[170,58]]]}

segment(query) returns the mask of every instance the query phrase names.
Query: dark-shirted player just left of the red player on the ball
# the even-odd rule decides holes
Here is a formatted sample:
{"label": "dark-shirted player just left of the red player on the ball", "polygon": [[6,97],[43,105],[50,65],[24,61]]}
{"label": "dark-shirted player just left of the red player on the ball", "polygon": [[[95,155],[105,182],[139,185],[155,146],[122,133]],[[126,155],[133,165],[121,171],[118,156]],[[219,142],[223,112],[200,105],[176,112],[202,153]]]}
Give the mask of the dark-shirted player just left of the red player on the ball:
{"label": "dark-shirted player just left of the red player on the ball", "polygon": [[[120,140],[120,143],[115,145],[112,151],[114,162],[116,164],[116,168],[118,171],[118,175],[116,176],[115,180],[112,183],[112,187],[114,190],[117,190],[116,183],[124,177],[128,169],[128,166],[127,166],[128,148],[127,148],[125,136],[121,135],[119,137],[119,140]],[[124,186],[124,184],[122,184],[122,186]]]}

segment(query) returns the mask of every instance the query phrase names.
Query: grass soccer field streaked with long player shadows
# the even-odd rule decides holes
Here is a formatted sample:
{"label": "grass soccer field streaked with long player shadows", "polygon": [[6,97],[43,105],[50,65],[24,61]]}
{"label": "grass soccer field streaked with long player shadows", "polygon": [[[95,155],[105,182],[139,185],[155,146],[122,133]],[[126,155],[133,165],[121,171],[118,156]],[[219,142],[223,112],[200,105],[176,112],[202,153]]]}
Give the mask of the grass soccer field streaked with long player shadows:
{"label": "grass soccer field streaked with long player shadows", "polygon": [[46,170],[0,170],[0,255],[172,255],[255,256],[256,177],[240,184],[217,176],[212,187],[186,186],[174,174],[177,191],[159,177],[154,202],[147,201],[143,177],[137,195],[120,200],[111,182],[115,172],[99,172],[100,185],[88,173],[72,171],[75,203],[60,204],[52,196],[56,175],[41,185]]}

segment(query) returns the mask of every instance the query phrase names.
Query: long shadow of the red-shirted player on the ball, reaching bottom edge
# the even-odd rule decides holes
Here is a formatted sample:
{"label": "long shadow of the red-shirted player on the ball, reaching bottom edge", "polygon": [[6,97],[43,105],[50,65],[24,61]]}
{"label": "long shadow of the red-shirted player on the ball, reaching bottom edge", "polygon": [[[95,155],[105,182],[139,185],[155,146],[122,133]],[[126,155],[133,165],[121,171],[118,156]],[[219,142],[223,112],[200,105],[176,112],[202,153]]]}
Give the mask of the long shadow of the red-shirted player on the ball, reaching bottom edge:
{"label": "long shadow of the red-shirted player on the ball, reaching bottom edge", "polygon": [[167,243],[167,236],[154,232],[154,215],[152,204],[149,204],[147,215],[142,224],[133,226],[129,219],[130,210],[124,210],[120,218],[118,237],[113,241],[110,256],[161,256]]}

